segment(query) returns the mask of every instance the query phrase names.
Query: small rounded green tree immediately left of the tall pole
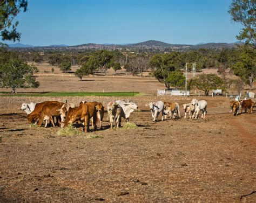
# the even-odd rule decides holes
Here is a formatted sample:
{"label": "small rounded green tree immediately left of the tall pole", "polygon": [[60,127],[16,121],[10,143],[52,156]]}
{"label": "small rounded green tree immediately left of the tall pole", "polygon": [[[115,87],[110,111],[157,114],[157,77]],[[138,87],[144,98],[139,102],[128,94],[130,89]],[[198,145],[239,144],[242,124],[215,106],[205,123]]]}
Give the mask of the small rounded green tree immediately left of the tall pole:
{"label": "small rounded green tree immediately left of the tall pole", "polygon": [[177,69],[176,71],[172,71],[169,73],[166,81],[170,86],[177,89],[185,86],[185,80],[186,78],[183,73],[179,69]]}

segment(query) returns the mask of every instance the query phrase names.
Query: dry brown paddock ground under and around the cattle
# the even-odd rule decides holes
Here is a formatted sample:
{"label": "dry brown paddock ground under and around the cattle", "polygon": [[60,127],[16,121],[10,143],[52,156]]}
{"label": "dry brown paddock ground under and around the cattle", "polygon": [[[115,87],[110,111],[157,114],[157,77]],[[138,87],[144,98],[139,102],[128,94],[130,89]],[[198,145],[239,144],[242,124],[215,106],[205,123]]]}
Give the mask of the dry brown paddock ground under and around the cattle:
{"label": "dry brown paddock ground under and around the cattle", "polygon": [[130,121],[139,129],[110,130],[105,114],[103,130],[90,132],[103,138],[88,139],[31,128],[19,110],[23,99],[106,106],[121,98],[1,97],[0,202],[256,201],[255,109],[233,116],[227,98],[200,97],[208,102],[205,120],[153,122],[147,102],[192,98],[135,96],[142,111]]}

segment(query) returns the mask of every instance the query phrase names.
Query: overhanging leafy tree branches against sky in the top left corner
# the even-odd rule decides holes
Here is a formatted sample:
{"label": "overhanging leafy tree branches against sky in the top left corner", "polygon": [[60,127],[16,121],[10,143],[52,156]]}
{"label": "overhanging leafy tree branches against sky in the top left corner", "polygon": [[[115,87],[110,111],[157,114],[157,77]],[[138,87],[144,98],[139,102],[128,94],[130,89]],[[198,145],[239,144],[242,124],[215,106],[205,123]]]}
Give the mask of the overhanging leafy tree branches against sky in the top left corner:
{"label": "overhanging leafy tree branches against sky in the top left corner", "polygon": [[17,32],[18,21],[13,22],[20,11],[26,12],[27,0],[2,0],[0,2],[0,31],[2,40],[20,40]]}

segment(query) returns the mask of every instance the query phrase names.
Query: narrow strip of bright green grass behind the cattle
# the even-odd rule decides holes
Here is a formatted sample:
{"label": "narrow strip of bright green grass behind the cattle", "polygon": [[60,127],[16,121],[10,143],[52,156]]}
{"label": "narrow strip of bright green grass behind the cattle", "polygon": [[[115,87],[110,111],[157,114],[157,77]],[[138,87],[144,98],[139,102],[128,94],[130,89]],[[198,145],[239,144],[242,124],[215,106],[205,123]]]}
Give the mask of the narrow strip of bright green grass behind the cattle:
{"label": "narrow strip of bright green grass behind the cattle", "polygon": [[0,96],[135,96],[139,92],[44,92],[44,93],[17,93],[0,92]]}

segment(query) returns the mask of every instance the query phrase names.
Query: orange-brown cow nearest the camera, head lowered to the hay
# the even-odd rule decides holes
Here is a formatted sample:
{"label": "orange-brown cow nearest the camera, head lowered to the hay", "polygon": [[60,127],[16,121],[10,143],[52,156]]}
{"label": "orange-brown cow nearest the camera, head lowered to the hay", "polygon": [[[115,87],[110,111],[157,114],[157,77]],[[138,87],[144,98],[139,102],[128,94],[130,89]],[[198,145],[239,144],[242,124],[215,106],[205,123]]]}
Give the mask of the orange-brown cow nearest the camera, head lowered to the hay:
{"label": "orange-brown cow nearest the camera, head lowered to the hay", "polygon": [[84,132],[89,131],[90,118],[93,117],[92,125],[97,130],[97,110],[96,102],[87,102],[79,105],[78,109],[72,114],[68,123],[72,124],[77,120],[84,123]]}

